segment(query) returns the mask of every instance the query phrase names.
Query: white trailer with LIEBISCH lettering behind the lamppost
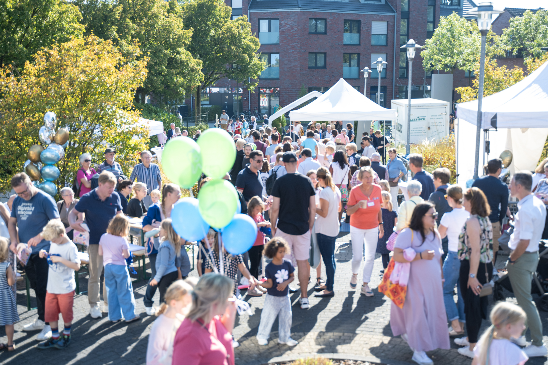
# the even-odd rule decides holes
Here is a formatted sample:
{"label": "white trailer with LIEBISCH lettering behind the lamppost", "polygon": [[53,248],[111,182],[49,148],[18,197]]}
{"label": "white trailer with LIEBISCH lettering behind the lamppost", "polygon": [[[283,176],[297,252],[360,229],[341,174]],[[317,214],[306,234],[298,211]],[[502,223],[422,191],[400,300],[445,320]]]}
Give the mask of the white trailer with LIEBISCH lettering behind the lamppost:
{"label": "white trailer with LIEBISCH lettering behind the lamppost", "polygon": [[[408,100],[393,99],[396,121],[392,125],[392,137],[407,143]],[[410,143],[424,140],[437,141],[449,134],[450,103],[437,99],[411,99]]]}

